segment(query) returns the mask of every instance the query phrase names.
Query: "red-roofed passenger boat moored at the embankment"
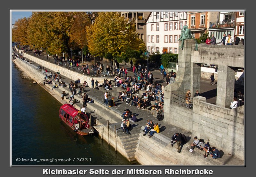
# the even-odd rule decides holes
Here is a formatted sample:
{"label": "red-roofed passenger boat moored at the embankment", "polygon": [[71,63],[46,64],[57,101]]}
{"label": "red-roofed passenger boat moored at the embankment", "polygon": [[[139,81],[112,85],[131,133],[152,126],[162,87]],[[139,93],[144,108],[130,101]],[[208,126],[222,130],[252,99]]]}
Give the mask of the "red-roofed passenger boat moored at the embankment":
{"label": "red-roofed passenger boat moored at the embankment", "polygon": [[63,104],[60,107],[60,119],[79,135],[94,133],[86,114],[74,108],[71,104]]}

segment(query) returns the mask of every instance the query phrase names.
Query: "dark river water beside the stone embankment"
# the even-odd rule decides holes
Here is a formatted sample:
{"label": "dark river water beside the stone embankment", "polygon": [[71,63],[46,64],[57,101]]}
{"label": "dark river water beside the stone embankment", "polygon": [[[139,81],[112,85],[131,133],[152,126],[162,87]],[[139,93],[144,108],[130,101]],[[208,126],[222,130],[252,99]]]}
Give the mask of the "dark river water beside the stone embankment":
{"label": "dark river water beside the stone embankment", "polygon": [[14,66],[12,165],[131,165],[97,135],[81,137],[64,125],[60,102]]}

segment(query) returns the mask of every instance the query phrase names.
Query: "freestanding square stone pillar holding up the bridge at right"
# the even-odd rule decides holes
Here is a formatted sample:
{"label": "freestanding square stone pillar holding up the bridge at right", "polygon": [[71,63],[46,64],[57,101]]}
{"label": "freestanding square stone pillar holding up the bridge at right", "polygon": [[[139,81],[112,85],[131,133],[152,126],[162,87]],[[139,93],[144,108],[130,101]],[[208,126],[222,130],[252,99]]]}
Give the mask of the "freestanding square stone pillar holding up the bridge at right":
{"label": "freestanding square stone pillar holding up the bridge at right", "polygon": [[217,100],[218,106],[230,108],[235,90],[235,70],[229,66],[218,66]]}

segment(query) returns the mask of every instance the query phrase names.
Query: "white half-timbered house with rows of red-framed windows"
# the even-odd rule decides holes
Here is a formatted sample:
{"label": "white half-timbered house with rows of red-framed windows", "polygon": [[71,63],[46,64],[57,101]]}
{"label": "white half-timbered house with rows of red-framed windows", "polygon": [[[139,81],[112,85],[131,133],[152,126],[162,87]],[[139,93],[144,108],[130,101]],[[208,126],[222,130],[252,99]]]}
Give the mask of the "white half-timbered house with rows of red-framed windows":
{"label": "white half-timbered house with rows of red-framed windows", "polygon": [[186,12],[151,12],[146,23],[148,53],[179,52],[178,39],[187,25]]}

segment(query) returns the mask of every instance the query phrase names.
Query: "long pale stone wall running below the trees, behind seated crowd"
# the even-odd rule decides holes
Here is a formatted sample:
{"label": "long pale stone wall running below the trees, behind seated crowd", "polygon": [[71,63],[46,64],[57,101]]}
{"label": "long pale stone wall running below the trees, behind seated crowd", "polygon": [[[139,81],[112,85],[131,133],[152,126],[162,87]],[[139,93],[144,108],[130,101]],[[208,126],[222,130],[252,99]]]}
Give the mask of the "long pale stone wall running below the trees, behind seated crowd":
{"label": "long pale stone wall running below the trees, behind seated crowd", "polygon": [[[61,67],[59,65],[56,65],[56,64],[53,64],[53,63],[50,63],[50,62],[47,62],[45,60],[41,60],[39,58],[36,58],[34,56],[31,56],[27,53],[23,53],[23,56],[25,58],[28,58],[28,60],[30,61],[33,61],[39,65],[41,65],[42,67],[44,66],[45,68],[51,70],[52,72],[58,72],[60,70],[60,74],[61,75],[64,75],[65,77],[68,77],[72,80],[77,80],[78,78],[81,80],[81,82],[88,82],[88,86],[89,87],[92,87],[92,78],[94,79],[94,87],[95,87],[95,82],[98,81],[100,82],[101,84],[103,83],[104,79],[113,79],[113,78],[105,78],[105,77],[90,77],[90,76],[87,76],[85,74],[81,74],[81,73],[77,73],[75,71],[72,71],[72,70],[69,70],[68,68],[65,68],[65,67]],[[68,84],[68,83],[66,83]]]}

